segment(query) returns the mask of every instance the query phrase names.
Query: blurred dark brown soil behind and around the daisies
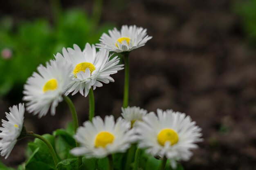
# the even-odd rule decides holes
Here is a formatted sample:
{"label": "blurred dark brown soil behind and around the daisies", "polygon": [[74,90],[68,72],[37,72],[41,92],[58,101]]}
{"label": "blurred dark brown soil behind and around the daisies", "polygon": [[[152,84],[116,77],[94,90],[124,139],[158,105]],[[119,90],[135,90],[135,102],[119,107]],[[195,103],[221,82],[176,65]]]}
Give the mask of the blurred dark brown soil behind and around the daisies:
{"label": "blurred dark brown soil behind and around the daisies", "polygon": [[[16,20],[45,16],[49,3],[23,0],[3,2],[2,14]],[[256,51],[245,41],[231,0],[107,0],[101,23],[136,24],[153,36],[130,54],[130,106],[184,112],[202,127],[204,142],[184,162],[186,170],[256,169]],[[2,3],[2,2],[1,2]],[[32,3],[32,4],[33,4]],[[62,1],[64,8],[91,11],[92,2]],[[115,83],[94,91],[96,114],[120,115],[124,71]],[[88,99],[72,97],[80,124],[88,117]],[[18,99],[1,99],[0,113]],[[42,119],[25,115],[27,129],[39,134],[65,127],[71,120],[65,104]],[[7,160],[9,166],[25,161],[27,140],[19,141]]]}

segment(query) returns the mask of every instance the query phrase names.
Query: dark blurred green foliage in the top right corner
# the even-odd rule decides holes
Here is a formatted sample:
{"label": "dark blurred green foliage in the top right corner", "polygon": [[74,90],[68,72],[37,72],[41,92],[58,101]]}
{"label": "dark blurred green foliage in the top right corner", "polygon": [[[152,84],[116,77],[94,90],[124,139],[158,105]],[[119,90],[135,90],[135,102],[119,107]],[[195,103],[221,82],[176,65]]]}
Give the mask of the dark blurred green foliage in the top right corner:
{"label": "dark blurred green foliage in the top right corner", "polygon": [[236,2],[233,9],[240,16],[247,37],[256,45],[256,0]]}

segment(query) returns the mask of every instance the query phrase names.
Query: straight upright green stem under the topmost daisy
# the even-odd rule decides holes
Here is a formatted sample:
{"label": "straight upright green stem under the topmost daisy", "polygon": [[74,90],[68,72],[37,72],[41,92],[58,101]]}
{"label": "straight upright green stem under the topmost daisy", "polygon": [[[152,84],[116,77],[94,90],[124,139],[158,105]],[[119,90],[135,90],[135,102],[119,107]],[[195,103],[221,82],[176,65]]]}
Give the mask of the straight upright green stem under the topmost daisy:
{"label": "straight upright green stem under the topmost daisy", "polygon": [[123,108],[128,107],[129,102],[129,52],[124,53],[124,104]]}

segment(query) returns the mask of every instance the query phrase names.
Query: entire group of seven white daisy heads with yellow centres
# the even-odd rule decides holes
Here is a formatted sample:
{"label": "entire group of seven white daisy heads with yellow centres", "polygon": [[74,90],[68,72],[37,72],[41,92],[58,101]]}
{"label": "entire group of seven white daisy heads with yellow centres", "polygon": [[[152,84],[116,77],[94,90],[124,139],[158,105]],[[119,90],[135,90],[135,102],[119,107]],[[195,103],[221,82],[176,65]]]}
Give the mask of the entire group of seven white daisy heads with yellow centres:
{"label": "entire group of seven white daisy heads with yellow centres", "polygon": [[[62,54],[54,55],[55,59],[46,66],[38,66],[24,86],[26,108],[24,104],[11,107],[10,113],[6,113],[8,121],[2,120],[1,156],[7,158],[17,140],[25,137],[25,110],[38,117],[49,111],[55,115],[58,103],[70,93],[79,92],[87,97],[103,83],[114,82],[110,76],[127,66],[119,64],[120,58],[115,54],[127,56],[151,38],[146,29],[125,25],[121,31],[115,28],[108,34],[103,33],[96,46],[87,43],[83,50],[77,45],[73,49],[63,48]],[[80,146],[70,150],[72,155],[103,158],[126,152],[131,144],[137,144],[138,149],[145,149],[154,157],[169,159],[175,168],[177,161],[189,160],[191,149],[197,148],[196,143],[202,141],[201,128],[184,113],[160,109],[157,113],[148,113],[136,106],[121,108],[121,112],[122,117],[116,121],[112,115],[85,121],[74,135]]]}

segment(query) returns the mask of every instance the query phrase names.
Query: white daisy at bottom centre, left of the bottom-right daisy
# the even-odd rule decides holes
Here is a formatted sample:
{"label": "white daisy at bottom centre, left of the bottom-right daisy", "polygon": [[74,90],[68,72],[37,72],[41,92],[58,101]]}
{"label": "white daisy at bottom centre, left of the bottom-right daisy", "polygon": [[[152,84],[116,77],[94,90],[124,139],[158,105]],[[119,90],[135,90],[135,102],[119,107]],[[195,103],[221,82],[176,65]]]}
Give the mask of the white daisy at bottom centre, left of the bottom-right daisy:
{"label": "white daisy at bottom centre, left of the bottom-right daisy", "polygon": [[74,136],[81,144],[81,147],[71,150],[76,156],[103,158],[112,153],[125,152],[136,140],[134,131],[129,130],[130,122],[121,117],[115,123],[112,115],[106,116],[104,122],[96,116],[92,122],[85,121],[83,126],[78,128]]}

